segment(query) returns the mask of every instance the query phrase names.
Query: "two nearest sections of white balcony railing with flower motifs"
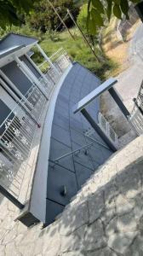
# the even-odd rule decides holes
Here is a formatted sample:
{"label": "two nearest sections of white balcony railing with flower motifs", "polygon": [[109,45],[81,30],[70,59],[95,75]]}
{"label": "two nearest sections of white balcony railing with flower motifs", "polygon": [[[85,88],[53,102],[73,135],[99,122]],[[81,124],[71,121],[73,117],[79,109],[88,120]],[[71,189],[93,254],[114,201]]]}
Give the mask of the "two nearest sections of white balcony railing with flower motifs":
{"label": "two nearest sections of white balcony railing with flower motifs", "polygon": [[45,96],[32,84],[0,125],[0,185],[18,201],[45,103]]}

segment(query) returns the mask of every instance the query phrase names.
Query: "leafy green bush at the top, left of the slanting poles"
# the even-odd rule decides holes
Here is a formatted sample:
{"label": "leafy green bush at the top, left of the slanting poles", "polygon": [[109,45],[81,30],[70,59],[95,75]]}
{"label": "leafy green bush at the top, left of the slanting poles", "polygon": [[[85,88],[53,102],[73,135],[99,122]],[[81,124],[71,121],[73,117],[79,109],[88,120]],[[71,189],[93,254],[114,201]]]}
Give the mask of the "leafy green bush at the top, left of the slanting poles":
{"label": "leafy green bush at the top, left of the slanting poles", "polygon": [[[74,6],[73,0],[54,0],[52,1],[54,8],[58,10],[58,13],[62,19],[66,17],[66,26],[72,26],[72,20],[67,15],[67,9],[72,10],[72,15],[76,18],[79,9]],[[54,13],[47,0],[41,0],[34,4],[34,9],[31,15],[28,16],[28,21],[34,29],[41,29],[43,32],[54,31],[57,27],[60,31],[62,24],[60,25],[60,20]],[[60,25],[60,26],[59,26]]]}

